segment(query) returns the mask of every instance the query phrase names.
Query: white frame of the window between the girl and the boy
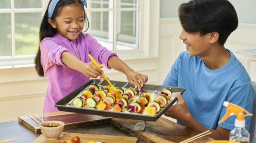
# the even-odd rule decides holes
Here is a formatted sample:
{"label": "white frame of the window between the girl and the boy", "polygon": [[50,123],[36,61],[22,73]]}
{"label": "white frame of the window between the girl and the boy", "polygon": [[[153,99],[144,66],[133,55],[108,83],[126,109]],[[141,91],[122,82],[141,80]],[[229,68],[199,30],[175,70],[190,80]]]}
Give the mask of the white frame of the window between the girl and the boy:
{"label": "white frame of the window between the girl and the boy", "polygon": [[[89,4],[88,0],[88,4]],[[118,0],[110,0],[109,5],[117,6]],[[158,57],[158,46],[159,46],[159,17],[160,17],[160,1],[159,0],[140,0],[139,8],[90,8],[86,9],[86,14],[90,19],[90,11],[91,12],[101,12],[101,11],[110,11],[109,15],[113,15],[114,20],[109,20],[109,22],[114,21],[114,30],[112,30],[112,25],[109,24],[109,39],[112,38],[112,35],[117,35],[117,23],[116,20],[117,12],[116,11],[134,11],[139,10],[139,49],[132,50],[116,50],[116,46],[114,45],[114,52],[118,54],[121,59],[139,59],[139,58],[148,58],[148,57]],[[109,17],[109,18],[111,18]],[[91,23],[90,23],[91,24]],[[88,31],[90,33],[90,31]],[[152,33],[152,34],[151,34]],[[100,41],[100,40],[98,40]],[[111,41],[111,40],[110,40]],[[112,40],[113,43],[116,43],[117,36],[114,36]]]}

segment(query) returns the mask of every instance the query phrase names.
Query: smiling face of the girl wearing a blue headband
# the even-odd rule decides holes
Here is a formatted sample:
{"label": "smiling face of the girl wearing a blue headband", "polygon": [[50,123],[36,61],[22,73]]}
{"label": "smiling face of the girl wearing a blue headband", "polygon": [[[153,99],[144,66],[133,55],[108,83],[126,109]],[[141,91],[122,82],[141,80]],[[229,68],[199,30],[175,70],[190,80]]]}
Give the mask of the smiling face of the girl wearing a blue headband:
{"label": "smiling face of the girl wearing a blue headband", "polygon": [[61,9],[59,16],[49,23],[57,29],[60,36],[75,40],[83,30],[85,20],[83,11],[80,5],[67,5]]}

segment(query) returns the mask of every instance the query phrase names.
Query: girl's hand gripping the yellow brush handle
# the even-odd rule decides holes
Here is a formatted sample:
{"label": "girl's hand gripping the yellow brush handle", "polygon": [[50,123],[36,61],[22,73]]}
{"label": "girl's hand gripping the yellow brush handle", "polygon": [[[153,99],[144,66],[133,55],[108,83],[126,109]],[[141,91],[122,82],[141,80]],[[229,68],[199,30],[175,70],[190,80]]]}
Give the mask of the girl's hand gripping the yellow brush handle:
{"label": "girl's hand gripping the yellow brush handle", "polygon": [[[103,68],[103,65],[99,65],[100,68]],[[97,68],[93,62],[85,63],[82,67],[82,72],[85,76],[90,78],[96,78],[100,75],[102,75],[103,70]]]}

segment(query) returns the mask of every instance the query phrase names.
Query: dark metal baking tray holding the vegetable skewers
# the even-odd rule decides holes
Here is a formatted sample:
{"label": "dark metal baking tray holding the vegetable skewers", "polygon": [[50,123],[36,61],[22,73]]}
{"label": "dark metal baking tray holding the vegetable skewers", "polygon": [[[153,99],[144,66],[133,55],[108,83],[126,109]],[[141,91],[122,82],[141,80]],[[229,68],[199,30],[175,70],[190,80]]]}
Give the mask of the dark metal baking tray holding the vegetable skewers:
{"label": "dark metal baking tray holding the vegetable skewers", "polygon": [[[123,87],[127,82],[120,81],[110,81],[112,84],[115,84],[115,87]],[[54,104],[55,107],[60,111],[67,112],[76,112],[76,113],[84,113],[91,115],[100,115],[106,117],[117,117],[117,118],[126,118],[126,119],[135,119],[135,120],[145,120],[145,121],[156,121],[163,113],[169,109],[177,100],[177,98],[171,98],[171,102],[167,104],[159,113],[156,115],[150,116],[140,113],[130,113],[130,112],[117,112],[117,111],[109,111],[109,110],[97,110],[97,109],[88,109],[88,108],[80,108],[70,106],[69,103],[76,97],[78,97],[84,89],[87,89],[90,84],[99,84],[100,79],[91,79],[89,82],[85,83],[78,89],[74,90],[70,94],[66,95],[64,98],[60,99],[58,102]],[[99,86],[102,89],[103,86],[109,85],[107,81],[102,82]],[[134,87],[132,84],[128,83],[123,89],[128,89],[130,87]],[[152,93],[157,90],[155,93],[151,94],[151,101],[154,101],[155,96],[160,95],[160,92],[163,88],[170,88],[171,86],[162,86],[162,85],[153,85],[153,84],[144,84],[141,89],[141,92]],[[137,94],[139,95],[138,89],[135,89]],[[185,89],[183,87],[172,87],[171,91],[173,93],[180,92],[183,93]]]}

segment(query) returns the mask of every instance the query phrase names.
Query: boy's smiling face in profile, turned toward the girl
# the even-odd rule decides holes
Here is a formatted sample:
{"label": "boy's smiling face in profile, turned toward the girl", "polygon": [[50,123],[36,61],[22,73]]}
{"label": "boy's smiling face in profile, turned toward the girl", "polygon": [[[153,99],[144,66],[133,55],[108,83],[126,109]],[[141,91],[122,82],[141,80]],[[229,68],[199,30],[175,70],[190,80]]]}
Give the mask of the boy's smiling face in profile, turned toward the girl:
{"label": "boy's smiling face in profile, turned toward the girl", "polygon": [[200,36],[200,32],[188,33],[184,29],[180,34],[190,56],[207,56],[210,52],[210,37],[209,34]]}

